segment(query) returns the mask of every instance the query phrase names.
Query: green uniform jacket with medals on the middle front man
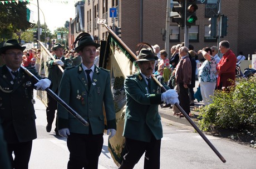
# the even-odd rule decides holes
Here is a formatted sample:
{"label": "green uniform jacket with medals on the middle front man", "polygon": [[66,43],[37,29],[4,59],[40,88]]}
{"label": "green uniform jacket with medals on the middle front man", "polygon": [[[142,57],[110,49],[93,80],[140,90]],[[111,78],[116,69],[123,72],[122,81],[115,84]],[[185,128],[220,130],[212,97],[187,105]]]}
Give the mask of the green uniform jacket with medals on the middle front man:
{"label": "green uniform jacket with medals on the middle front man", "polygon": [[[110,71],[95,66],[90,91],[82,66],[66,69],[63,73],[58,95],[70,107],[89,122],[92,134],[102,134],[105,129],[102,104],[106,111],[107,129],[116,129],[114,100],[111,93]],[[58,130],[68,128],[70,132],[89,134],[73,115],[58,104]]]}

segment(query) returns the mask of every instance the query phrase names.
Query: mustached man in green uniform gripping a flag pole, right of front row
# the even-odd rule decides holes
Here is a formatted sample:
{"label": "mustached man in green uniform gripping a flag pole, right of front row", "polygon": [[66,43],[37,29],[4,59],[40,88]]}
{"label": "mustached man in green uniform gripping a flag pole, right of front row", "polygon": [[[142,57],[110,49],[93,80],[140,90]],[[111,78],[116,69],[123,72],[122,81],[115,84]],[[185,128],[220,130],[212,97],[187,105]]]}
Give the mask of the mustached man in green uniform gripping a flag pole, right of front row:
{"label": "mustached man in green uniform gripping a flag pole, right of front row", "polygon": [[124,124],[125,150],[120,169],[134,168],[145,153],[144,168],[160,168],[160,146],[163,137],[158,107],[161,103],[179,103],[178,94],[169,89],[157,94],[159,86],[151,79],[155,54],[152,49],[141,49],[137,64],[140,71],[125,79],[126,113]]}

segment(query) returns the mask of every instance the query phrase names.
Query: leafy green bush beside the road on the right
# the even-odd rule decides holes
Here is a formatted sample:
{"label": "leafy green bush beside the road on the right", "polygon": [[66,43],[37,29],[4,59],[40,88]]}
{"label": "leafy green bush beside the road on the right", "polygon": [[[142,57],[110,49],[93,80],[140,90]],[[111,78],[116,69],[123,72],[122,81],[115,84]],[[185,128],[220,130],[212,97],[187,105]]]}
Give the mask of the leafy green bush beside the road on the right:
{"label": "leafy green bush beside the road on the right", "polygon": [[216,90],[213,103],[201,108],[201,130],[233,129],[256,136],[256,78],[239,79],[230,91]]}

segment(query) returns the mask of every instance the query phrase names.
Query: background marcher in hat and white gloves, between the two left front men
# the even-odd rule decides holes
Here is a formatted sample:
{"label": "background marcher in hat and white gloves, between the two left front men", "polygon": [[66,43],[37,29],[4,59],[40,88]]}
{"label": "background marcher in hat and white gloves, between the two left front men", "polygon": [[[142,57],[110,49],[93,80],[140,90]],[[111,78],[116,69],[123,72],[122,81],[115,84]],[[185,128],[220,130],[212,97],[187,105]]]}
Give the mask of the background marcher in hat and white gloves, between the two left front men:
{"label": "background marcher in hat and white gloves, between the two left front men", "polygon": [[[48,78],[52,80],[52,91],[58,94],[58,86],[60,85],[63,72],[58,68],[58,65],[65,69],[71,66],[71,60],[63,56],[64,48],[60,43],[56,43],[52,50],[55,55],[53,57],[48,56],[46,66],[48,67]],[[52,122],[55,118],[55,111],[57,110],[57,101],[52,98],[51,95],[47,94],[48,104],[46,108],[47,125],[46,131],[51,132]],[[55,123],[55,133],[58,135],[57,130],[57,119]]]}

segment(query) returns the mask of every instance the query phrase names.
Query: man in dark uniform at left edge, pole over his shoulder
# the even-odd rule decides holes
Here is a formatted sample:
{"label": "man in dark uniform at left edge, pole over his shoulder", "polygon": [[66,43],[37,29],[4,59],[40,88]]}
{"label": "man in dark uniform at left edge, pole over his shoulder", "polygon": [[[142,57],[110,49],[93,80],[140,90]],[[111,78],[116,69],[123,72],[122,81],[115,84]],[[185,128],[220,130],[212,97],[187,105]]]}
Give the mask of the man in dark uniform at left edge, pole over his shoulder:
{"label": "man in dark uniform at left edge, pole over his shoulder", "polygon": [[0,67],[0,119],[8,157],[16,169],[28,168],[32,140],[37,137],[34,86],[45,90],[51,84],[49,79],[42,79],[35,68],[28,70],[41,79],[38,83],[20,67],[25,48],[16,39],[7,40],[0,48],[5,63]]}

